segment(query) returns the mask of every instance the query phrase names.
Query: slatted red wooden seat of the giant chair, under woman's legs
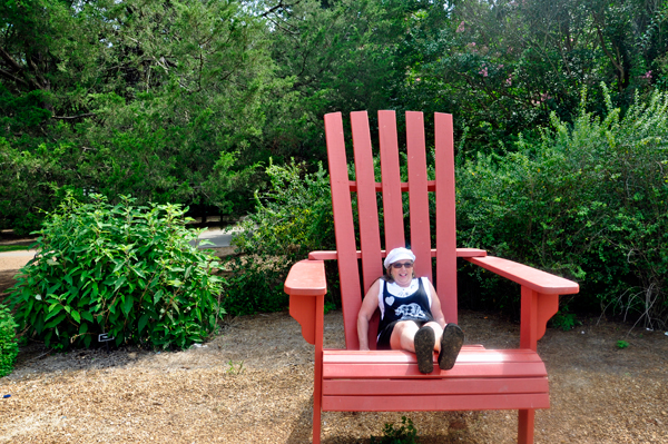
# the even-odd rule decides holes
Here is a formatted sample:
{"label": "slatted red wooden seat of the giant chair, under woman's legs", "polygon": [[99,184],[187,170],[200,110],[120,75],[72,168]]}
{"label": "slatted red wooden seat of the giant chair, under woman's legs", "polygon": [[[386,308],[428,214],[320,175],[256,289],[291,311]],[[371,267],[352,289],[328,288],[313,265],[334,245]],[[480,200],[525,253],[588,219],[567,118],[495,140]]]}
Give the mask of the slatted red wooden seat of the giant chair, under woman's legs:
{"label": "slatted red wooden seat of the giant chair, under woman's legs", "polygon": [[[549,408],[548,374],[530,349],[464,346],[456,364],[418,371],[401,351],[323,351],[324,411]],[[434,354],[435,358],[435,354]]]}

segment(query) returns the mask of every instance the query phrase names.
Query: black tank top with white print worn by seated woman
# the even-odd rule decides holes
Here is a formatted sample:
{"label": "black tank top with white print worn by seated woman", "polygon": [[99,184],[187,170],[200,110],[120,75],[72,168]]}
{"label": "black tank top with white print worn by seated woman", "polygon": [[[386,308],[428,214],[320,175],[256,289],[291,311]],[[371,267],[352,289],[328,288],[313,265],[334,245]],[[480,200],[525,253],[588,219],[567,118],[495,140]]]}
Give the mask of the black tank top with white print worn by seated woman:
{"label": "black tank top with white print worn by seated woman", "polygon": [[395,320],[419,320],[425,323],[434,320],[429,297],[422,285],[422,278],[418,279],[418,292],[406,297],[392,295],[387,290],[387,283],[384,280],[381,285],[383,285],[384,314],[379,324],[379,334]]}

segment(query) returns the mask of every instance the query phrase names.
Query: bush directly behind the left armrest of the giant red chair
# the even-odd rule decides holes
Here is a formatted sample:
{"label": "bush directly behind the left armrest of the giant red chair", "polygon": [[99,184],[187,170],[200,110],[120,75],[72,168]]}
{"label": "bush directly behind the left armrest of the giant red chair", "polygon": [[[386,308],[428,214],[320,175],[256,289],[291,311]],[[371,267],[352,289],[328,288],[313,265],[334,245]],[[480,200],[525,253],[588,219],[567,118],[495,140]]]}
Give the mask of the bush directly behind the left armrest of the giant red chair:
{"label": "bush directly behind the left armrest of the giant red chair", "polygon": [[283,283],[289,267],[308,251],[333,248],[328,177],[322,165],[313,174],[303,169],[304,165],[294,161],[267,167],[271,190],[255,194],[256,213],[233,240],[239,255],[227,263],[233,272],[224,302],[228,313],[283,309],[287,305]]}

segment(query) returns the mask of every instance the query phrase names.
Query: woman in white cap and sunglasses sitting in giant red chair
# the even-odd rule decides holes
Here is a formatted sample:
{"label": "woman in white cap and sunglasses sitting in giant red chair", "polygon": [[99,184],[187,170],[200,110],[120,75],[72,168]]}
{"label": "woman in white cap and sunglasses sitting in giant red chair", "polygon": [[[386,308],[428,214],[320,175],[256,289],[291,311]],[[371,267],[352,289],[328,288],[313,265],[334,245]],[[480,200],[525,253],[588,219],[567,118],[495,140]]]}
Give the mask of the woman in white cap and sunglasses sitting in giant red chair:
{"label": "woman in white cap and sunglasses sitting in giant red chair", "polygon": [[421,373],[433,371],[435,351],[439,367],[451,369],[462,348],[464,333],[456,324],[445,325],[436,290],[426,277],[415,278],[414,262],[415,255],[406,248],[394,248],[387,254],[385,274],[373,283],[360,308],[360,349],[369,349],[369,320],[379,308],[377,349],[415,353]]}

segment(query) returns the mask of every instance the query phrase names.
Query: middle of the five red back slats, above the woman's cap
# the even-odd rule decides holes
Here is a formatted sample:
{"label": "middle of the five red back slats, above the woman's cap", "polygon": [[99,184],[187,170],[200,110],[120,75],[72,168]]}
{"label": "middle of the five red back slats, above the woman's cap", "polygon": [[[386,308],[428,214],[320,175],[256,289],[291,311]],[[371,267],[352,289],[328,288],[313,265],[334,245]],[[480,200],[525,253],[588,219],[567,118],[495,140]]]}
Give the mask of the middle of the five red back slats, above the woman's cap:
{"label": "middle of the five red back slats, above the woman's cap", "polygon": [[[379,111],[381,147],[381,182],[383,190],[383,223],[385,249],[405,247],[403,226],[402,184],[399,169],[399,140],[394,111]],[[406,184],[407,190],[407,184]]]}

